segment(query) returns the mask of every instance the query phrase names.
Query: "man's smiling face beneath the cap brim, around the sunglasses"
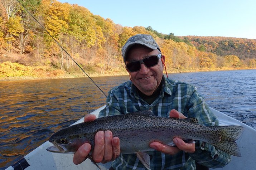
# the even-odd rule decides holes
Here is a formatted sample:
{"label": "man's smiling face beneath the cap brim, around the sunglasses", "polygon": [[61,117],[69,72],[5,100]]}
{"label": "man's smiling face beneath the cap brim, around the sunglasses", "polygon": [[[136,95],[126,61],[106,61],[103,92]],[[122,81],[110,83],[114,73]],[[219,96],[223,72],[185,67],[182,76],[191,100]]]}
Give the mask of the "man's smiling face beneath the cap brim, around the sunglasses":
{"label": "man's smiling face beneath the cap brim, around the sunglasses", "polygon": [[[134,61],[141,60],[150,55],[160,54],[159,50],[152,50],[143,45],[134,45],[127,54],[126,64]],[[163,60],[165,59],[162,55]],[[161,83],[163,77],[164,65],[159,59],[159,62],[154,67],[147,68],[141,64],[140,70],[130,73],[132,83],[144,94],[150,96]]]}

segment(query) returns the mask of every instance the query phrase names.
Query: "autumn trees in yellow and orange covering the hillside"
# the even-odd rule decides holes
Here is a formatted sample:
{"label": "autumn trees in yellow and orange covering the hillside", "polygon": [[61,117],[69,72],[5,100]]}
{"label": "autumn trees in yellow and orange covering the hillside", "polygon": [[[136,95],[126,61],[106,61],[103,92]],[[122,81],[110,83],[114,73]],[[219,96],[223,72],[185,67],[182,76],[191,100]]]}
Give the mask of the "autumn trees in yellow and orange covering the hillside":
{"label": "autumn trees in yellow and orange covering the hillside", "polygon": [[[21,3],[88,73],[126,72],[121,47],[135,34],[150,34],[156,39],[165,55],[168,72],[256,67],[255,39],[177,37],[173,33],[161,34],[150,26],[121,26],[109,18],[93,15],[82,6],[57,0],[21,0]],[[47,32],[16,0],[0,0],[0,76],[33,76],[36,67],[58,69],[59,73],[76,72],[78,67]],[[11,66],[10,62],[17,64]],[[18,69],[18,73],[3,73],[5,69],[12,72],[11,68]]]}

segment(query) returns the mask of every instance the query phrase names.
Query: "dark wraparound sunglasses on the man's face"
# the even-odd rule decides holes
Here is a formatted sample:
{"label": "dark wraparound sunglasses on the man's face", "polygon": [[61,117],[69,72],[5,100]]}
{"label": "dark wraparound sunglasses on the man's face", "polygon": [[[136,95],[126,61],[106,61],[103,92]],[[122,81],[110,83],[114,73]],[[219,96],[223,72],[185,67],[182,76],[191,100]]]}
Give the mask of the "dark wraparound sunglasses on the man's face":
{"label": "dark wraparound sunglasses on the man's face", "polygon": [[140,70],[141,64],[144,64],[147,68],[154,67],[158,64],[159,59],[162,57],[162,54],[150,55],[142,60],[132,61],[125,64],[125,67],[129,72],[137,72]]}

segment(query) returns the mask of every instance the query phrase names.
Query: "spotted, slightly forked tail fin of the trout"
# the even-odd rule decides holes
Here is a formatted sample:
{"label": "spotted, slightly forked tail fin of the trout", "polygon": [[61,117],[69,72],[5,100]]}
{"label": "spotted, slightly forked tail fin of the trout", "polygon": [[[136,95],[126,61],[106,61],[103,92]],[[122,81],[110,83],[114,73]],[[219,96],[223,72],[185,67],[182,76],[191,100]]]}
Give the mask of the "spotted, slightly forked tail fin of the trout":
{"label": "spotted, slightly forked tail fin of the trout", "polygon": [[219,142],[212,144],[218,149],[234,156],[241,157],[236,140],[242,135],[242,126],[218,126]]}

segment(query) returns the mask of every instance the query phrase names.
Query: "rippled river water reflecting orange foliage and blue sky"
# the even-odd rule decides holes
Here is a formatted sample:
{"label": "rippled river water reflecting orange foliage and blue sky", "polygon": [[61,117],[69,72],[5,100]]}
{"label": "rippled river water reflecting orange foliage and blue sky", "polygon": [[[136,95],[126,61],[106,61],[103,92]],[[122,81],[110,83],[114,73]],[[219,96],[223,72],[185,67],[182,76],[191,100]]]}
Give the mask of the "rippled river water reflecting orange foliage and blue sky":
{"label": "rippled river water reflecting orange foliage and blue sky", "polygon": [[[256,70],[168,74],[194,84],[208,105],[256,129]],[[129,76],[93,77],[107,94]],[[88,78],[0,82],[0,169],[105,104]]]}

